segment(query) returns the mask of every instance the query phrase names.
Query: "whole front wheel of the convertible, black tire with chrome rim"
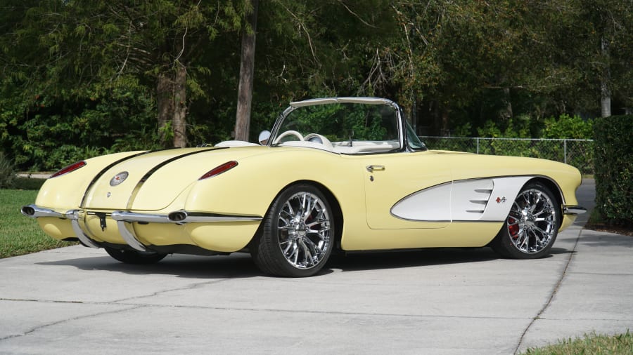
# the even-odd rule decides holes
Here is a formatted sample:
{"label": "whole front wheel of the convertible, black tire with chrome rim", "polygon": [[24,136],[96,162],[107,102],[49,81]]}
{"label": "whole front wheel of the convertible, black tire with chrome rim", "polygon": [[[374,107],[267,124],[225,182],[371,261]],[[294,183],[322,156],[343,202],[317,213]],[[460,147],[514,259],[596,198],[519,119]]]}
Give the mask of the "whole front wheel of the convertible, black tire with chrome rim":
{"label": "whole front wheel of the convertible, black tire with chrome rim", "polygon": [[528,182],[490,246],[504,257],[537,259],[549,255],[561,227],[556,195],[540,182]]}

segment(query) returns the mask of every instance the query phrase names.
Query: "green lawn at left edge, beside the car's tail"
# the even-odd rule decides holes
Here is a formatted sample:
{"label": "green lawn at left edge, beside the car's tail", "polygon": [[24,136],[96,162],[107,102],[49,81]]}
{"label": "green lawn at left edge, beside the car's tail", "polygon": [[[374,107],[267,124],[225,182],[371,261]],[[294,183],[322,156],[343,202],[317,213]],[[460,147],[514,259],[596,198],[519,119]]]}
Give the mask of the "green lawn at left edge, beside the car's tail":
{"label": "green lawn at left edge, beside the car's tail", "polygon": [[35,220],[20,213],[36,196],[37,190],[0,189],[0,258],[72,245],[47,236]]}

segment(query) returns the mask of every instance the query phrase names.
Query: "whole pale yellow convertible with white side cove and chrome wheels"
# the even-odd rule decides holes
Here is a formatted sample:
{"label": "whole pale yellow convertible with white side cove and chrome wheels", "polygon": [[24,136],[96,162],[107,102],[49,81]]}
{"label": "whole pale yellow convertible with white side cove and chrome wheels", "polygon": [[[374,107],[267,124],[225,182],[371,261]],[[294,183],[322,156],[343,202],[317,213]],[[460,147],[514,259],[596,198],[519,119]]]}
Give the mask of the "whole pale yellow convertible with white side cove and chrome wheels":
{"label": "whole pale yellow convertible with white side cove and chrome wheels", "polygon": [[51,175],[22,213],[116,260],[248,252],[310,276],[333,251],[490,246],[549,253],[581,177],[554,161],[429,150],[395,102],[290,103],[260,144],[108,154]]}

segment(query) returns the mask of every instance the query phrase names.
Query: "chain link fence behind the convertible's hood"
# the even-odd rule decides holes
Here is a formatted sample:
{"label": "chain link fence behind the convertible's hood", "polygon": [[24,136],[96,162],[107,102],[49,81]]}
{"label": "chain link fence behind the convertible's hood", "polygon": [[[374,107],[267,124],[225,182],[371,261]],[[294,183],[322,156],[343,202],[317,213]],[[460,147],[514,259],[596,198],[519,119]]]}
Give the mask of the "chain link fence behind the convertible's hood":
{"label": "chain link fence behind the convertible's hood", "polygon": [[594,140],[530,138],[463,138],[421,136],[428,149],[475,154],[529,156],[561,161],[582,174],[594,173]]}

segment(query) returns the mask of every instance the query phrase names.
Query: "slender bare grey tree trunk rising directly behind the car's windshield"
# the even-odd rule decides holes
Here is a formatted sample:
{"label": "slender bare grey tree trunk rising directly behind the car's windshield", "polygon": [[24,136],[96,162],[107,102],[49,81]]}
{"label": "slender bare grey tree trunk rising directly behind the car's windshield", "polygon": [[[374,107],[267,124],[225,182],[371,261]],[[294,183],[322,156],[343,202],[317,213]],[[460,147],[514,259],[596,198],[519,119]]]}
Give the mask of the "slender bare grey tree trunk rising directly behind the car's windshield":
{"label": "slender bare grey tree trunk rising directly behind the car's windshield", "polygon": [[242,33],[242,53],[240,64],[240,83],[238,86],[238,106],[235,119],[235,139],[248,141],[250,129],[250,105],[252,101],[252,79],[255,68],[255,31],[257,30],[258,0],[250,0],[252,13],[247,15],[247,22],[252,33],[245,29]]}

